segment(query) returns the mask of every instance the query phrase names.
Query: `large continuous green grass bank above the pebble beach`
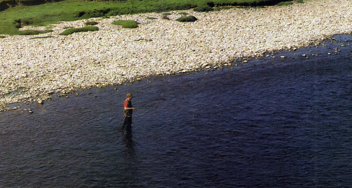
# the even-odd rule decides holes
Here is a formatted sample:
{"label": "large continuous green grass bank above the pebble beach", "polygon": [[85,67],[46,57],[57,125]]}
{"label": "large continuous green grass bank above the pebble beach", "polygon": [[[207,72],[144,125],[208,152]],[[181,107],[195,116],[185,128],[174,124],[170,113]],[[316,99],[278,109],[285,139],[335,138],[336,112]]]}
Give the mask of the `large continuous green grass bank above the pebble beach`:
{"label": "large continuous green grass bank above the pebble beach", "polygon": [[[2,2],[3,0],[0,0]],[[28,0],[29,2],[30,0]],[[33,0],[32,0],[33,1]],[[0,34],[18,35],[25,25],[46,26],[59,21],[75,21],[123,14],[168,12],[200,7],[250,6],[278,0],[63,0],[35,6],[17,6],[0,11]],[[279,0],[282,1],[282,0]]]}

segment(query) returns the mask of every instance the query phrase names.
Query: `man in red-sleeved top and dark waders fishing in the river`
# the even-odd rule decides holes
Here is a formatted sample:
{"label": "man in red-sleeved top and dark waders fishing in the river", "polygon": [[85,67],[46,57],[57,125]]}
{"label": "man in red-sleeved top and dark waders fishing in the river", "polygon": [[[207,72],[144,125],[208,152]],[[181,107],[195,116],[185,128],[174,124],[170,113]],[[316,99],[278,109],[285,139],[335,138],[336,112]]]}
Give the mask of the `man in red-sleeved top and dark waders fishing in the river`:
{"label": "man in red-sleeved top and dark waders fishing in the river", "polygon": [[132,94],[128,93],[127,94],[127,99],[124,102],[124,117],[125,117],[125,121],[124,124],[122,125],[122,134],[124,132],[124,129],[126,128],[126,138],[128,140],[132,139],[132,132],[131,132],[131,124],[132,124],[132,112],[135,109],[132,106]]}

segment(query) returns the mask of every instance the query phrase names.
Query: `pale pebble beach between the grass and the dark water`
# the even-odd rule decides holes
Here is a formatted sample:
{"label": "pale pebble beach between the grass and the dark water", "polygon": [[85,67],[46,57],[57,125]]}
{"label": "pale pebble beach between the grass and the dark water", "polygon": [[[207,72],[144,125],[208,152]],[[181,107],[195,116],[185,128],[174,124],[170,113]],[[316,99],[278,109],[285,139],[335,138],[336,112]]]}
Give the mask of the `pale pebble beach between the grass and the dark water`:
{"label": "pale pebble beach between the grass and the dark water", "polygon": [[[181,12],[198,21],[175,21]],[[54,31],[0,39],[0,111],[14,109],[8,104],[45,101],[55,93],[234,66],[234,60],[295,50],[352,32],[351,0],[170,13],[169,20],[162,13],[148,13],[23,27]],[[126,29],[111,24],[117,20],[139,25]],[[65,27],[84,27],[87,21],[98,22],[99,31],[59,35]]]}

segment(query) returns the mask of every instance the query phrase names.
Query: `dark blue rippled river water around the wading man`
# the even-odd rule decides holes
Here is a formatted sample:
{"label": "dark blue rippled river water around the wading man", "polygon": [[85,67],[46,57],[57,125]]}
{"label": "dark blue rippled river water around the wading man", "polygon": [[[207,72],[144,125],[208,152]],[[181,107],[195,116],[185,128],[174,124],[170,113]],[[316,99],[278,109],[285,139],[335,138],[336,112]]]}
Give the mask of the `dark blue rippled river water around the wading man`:
{"label": "dark blue rippled river water around the wading man", "polygon": [[[286,59],[19,104],[34,113],[0,114],[0,187],[350,187],[352,42],[336,38],[273,54]],[[133,143],[120,132],[128,92]]]}

